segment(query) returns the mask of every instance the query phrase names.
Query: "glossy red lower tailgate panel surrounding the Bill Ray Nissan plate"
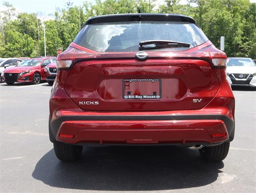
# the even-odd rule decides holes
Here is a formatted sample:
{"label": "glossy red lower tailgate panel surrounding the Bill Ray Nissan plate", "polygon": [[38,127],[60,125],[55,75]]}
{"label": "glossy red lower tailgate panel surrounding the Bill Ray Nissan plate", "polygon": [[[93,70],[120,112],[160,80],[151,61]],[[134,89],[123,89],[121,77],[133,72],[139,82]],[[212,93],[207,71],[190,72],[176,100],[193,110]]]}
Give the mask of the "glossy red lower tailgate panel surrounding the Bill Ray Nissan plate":
{"label": "glossy red lower tailgate panel surrounding the Bill Ray Nissan plate", "polygon": [[[178,67],[175,66],[177,63]],[[131,65],[136,65],[137,71],[131,70]],[[117,71],[116,66],[120,66],[119,75],[106,75],[106,71],[111,71],[112,66],[114,67],[112,74],[113,71]],[[126,74],[126,67],[128,68],[128,74]],[[148,70],[144,71],[145,67]],[[149,67],[156,69],[154,75]],[[174,68],[175,70],[166,71],[167,68]],[[160,74],[158,74],[159,72]],[[86,77],[86,79],[83,77]],[[162,98],[160,100],[143,101],[124,100],[122,98],[122,81],[123,79],[134,78],[161,79]],[[90,83],[87,83],[88,81]],[[152,90],[150,85],[146,89]],[[134,59],[132,61],[85,61],[74,65],[65,84],[65,90],[70,98],[84,110],[199,109],[214,97],[218,89],[219,82],[210,64],[206,61],[191,59],[148,59],[146,62],[140,63],[137,63]],[[199,96],[201,96],[202,102],[191,103],[194,98]],[[80,105],[79,101],[83,101],[84,98],[89,101],[98,101],[99,105]]]}

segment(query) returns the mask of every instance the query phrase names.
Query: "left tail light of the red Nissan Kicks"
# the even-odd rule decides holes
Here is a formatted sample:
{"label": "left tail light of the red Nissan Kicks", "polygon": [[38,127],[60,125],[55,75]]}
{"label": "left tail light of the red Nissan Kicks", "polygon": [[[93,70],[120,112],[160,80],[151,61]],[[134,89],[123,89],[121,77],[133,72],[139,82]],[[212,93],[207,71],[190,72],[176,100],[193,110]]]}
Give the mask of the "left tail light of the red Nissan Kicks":
{"label": "left tail light of the red Nissan Kicks", "polygon": [[74,62],[74,54],[76,49],[74,47],[68,47],[64,52],[60,53],[57,57],[56,65],[57,70],[70,69]]}

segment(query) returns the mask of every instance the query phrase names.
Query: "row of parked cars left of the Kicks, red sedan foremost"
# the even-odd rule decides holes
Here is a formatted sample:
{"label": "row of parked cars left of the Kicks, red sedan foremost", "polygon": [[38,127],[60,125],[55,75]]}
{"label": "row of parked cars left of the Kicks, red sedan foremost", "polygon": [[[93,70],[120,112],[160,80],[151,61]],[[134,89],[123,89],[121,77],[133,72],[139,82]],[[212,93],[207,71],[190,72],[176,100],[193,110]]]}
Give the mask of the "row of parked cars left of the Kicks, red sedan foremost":
{"label": "row of parked cars left of the Kicks, red sedan foremost", "polygon": [[[23,60],[22,60],[23,59]],[[56,57],[0,59],[1,82],[12,85],[15,82],[39,84],[46,80],[52,85],[56,74]]]}

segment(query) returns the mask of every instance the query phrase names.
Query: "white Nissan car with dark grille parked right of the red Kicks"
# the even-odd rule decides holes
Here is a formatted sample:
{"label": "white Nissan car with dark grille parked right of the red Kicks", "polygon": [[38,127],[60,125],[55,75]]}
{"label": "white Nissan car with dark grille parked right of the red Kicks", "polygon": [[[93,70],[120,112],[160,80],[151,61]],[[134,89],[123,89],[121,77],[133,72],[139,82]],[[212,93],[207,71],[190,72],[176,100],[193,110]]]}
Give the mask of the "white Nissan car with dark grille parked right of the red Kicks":
{"label": "white Nissan car with dark grille parked right of the red Kicks", "polygon": [[229,57],[227,75],[230,85],[256,88],[256,64],[250,58]]}

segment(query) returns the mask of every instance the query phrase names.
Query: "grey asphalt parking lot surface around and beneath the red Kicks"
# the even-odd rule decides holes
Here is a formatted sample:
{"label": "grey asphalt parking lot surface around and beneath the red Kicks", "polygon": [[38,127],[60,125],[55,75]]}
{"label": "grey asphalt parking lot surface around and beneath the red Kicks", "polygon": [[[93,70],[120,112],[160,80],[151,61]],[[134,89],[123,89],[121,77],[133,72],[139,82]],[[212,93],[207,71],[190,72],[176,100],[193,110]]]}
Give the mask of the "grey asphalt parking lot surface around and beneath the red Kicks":
{"label": "grey asphalt parking lot surface around and beneath the red Kicks", "polygon": [[256,91],[234,90],[236,134],[221,163],[171,146],[90,147],[64,163],[48,139],[50,90],[0,84],[0,192],[256,191]]}

